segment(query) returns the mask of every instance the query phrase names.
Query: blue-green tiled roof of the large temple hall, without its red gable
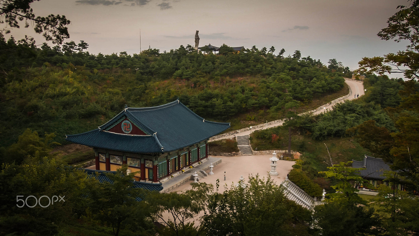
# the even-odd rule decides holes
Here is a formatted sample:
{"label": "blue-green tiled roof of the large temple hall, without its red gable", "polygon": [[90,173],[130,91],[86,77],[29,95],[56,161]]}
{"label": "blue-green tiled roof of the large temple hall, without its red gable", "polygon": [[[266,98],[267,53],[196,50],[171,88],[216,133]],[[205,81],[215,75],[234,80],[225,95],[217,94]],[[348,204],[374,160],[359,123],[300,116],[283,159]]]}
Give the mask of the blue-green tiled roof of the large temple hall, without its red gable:
{"label": "blue-green tiled roof of the large temple hall, without its red gable", "polygon": [[[146,135],[106,131],[122,118],[129,118]],[[150,108],[125,108],[97,129],[67,135],[77,144],[132,153],[171,152],[202,142],[230,128],[230,123],[206,121],[179,100]]]}

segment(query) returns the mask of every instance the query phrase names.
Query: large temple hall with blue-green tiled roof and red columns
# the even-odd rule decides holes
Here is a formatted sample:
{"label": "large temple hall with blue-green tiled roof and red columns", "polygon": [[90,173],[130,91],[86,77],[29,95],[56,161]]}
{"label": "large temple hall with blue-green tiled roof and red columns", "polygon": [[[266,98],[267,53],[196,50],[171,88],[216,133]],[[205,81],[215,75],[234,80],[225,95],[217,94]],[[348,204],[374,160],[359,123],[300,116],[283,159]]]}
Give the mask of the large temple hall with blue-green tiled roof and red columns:
{"label": "large temple hall with blue-green tiled roof and red columns", "polygon": [[208,157],[208,139],[230,123],[206,121],[179,100],[150,108],[125,107],[97,129],[67,135],[66,140],[93,147],[96,170],[122,164],[140,171],[136,181],[158,182]]}

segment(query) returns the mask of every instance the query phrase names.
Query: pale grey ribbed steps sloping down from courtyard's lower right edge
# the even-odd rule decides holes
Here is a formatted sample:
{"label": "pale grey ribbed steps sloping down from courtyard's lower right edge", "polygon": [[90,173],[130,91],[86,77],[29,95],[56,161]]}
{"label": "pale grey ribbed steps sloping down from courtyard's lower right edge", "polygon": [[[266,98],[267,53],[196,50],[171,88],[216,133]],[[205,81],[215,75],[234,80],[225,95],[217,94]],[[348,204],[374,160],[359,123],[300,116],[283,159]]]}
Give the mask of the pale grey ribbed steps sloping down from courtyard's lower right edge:
{"label": "pale grey ribbed steps sloping down from courtyard's lower right edge", "polygon": [[285,187],[285,196],[307,209],[313,209],[314,198],[308,195],[303,189],[300,189],[296,184],[292,183],[288,178],[281,184]]}

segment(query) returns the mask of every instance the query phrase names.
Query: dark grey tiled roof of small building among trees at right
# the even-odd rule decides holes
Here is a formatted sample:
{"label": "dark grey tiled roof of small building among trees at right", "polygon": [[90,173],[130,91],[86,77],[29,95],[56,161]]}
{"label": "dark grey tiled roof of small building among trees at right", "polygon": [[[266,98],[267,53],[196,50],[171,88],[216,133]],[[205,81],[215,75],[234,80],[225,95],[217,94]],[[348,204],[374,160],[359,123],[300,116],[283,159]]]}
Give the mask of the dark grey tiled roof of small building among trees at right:
{"label": "dark grey tiled roof of small building among trees at right", "polygon": [[365,155],[363,161],[352,161],[353,168],[365,168],[365,170],[360,171],[360,175],[363,178],[383,180],[385,179],[385,176],[383,176],[384,171],[391,170],[390,166],[388,166],[381,158]]}

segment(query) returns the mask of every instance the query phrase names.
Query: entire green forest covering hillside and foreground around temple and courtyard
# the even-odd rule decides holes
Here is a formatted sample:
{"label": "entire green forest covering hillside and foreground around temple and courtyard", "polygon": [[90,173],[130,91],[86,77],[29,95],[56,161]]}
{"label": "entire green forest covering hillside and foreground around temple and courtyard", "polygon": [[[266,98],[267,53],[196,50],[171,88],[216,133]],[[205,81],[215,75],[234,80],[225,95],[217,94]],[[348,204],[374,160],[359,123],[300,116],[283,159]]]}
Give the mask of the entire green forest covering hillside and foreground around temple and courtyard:
{"label": "entire green forest covering hillside and foreground around temple and courtyard", "polygon": [[[29,18],[53,43],[70,37],[65,16],[36,17],[32,2],[1,1],[0,16],[10,28]],[[419,78],[419,2],[398,8],[378,36],[410,45],[397,54],[363,58],[356,72],[368,74],[365,96],[316,116],[297,116],[297,108],[342,88],[349,70],[334,59],[325,66],[301,58],[299,51],[283,57],[285,50],[275,56],[273,47],[234,53],[225,45],[219,55],[196,53],[189,45],[162,53],[91,55],[83,41],[38,48],[31,37],[16,42],[0,32],[0,234],[419,235],[419,83],[414,80]],[[395,71],[411,80],[384,75]],[[52,152],[64,134],[96,128],[125,104],[153,106],[175,99],[217,121],[242,114],[253,119],[255,113],[285,118],[283,128],[256,131],[252,142],[283,149],[283,136],[292,134],[304,157],[290,179],[313,196],[320,197],[325,188],[324,204],[309,211],[288,200],[272,179],[258,175],[248,176],[247,185],[224,190],[217,182],[193,184],[183,193],[147,192],[133,188],[135,173],[127,174],[125,165],[107,175],[112,183],[100,183]],[[354,183],[368,183],[348,162],[365,151],[393,170],[385,173],[388,186],[378,186],[373,200],[357,194]],[[57,197],[48,207],[26,207],[52,196],[64,201]],[[200,224],[190,223],[202,211]]]}

